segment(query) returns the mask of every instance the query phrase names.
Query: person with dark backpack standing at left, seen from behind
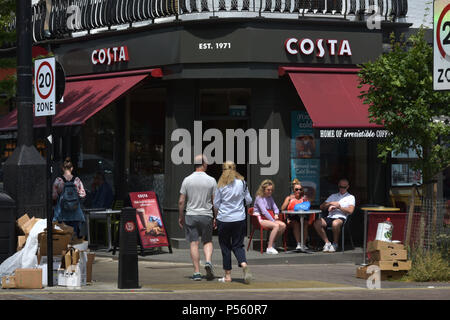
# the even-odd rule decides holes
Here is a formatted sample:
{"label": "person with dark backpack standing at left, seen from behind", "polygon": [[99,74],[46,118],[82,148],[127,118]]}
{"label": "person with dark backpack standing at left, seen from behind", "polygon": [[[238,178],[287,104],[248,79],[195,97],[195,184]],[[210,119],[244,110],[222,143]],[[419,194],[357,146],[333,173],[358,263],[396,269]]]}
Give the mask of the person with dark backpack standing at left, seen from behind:
{"label": "person with dark backpack standing at left, seen from behind", "polygon": [[80,178],[72,175],[73,164],[69,157],[61,167],[63,174],[53,183],[53,201],[56,201],[53,221],[64,222],[73,227],[80,238],[80,225],[85,221],[80,198],[86,197]]}

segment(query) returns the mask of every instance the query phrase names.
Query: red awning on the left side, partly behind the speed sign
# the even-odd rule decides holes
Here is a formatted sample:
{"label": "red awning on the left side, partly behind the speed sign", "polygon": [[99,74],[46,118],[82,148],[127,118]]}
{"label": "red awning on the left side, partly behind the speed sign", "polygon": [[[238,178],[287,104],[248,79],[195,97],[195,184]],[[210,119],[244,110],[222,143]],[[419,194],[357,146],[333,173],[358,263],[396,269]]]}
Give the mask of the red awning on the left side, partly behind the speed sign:
{"label": "red awning on the left side, partly behind the speed sign", "polygon": [[[150,74],[160,77],[161,69],[67,78],[64,102],[56,106],[53,126],[84,124]],[[45,117],[34,117],[35,128],[45,125]],[[17,109],[0,119],[0,131],[12,130],[17,130]]]}

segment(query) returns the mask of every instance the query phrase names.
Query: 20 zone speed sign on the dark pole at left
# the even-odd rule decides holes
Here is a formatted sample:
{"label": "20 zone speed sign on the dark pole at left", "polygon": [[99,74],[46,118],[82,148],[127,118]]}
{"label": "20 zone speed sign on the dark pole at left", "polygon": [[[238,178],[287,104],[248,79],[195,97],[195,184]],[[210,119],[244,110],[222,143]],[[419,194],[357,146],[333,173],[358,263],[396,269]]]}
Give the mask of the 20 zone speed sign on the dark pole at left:
{"label": "20 zone speed sign on the dark pole at left", "polygon": [[34,115],[56,114],[55,109],[55,58],[34,61]]}

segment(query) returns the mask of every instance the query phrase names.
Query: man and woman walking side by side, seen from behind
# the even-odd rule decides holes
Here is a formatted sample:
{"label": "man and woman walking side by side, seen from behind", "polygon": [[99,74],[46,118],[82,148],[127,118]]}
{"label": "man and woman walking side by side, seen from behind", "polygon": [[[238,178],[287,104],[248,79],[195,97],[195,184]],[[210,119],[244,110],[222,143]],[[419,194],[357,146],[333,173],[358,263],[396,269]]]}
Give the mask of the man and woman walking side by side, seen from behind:
{"label": "man and woman walking side by side, seen from behind", "polygon": [[[206,279],[213,280],[214,267],[212,232],[218,229],[225,275],[220,282],[231,282],[231,252],[244,272],[244,282],[252,281],[244,249],[246,235],[245,205],[252,202],[244,177],[236,171],[234,162],[223,164],[219,182],[206,174],[208,163],[203,155],[195,157],[195,171],[183,180],[178,201],[178,223],[185,229],[190,242],[191,259],[194,265],[193,280],[202,279],[200,273],[199,238],[205,254]],[[186,214],[184,209],[186,207]]]}

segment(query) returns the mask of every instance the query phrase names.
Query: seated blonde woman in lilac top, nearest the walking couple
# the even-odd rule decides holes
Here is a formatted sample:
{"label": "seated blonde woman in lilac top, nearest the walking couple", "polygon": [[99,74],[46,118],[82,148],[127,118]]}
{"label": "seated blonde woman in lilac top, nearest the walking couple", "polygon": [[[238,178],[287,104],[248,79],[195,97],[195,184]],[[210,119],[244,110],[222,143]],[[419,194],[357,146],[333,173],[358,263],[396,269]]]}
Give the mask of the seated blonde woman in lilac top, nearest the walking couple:
{"label": "seated blonde woman in lilac top, nearest the walking couple", "polygon": [[[275,239],[282,235],[286,229],[286,224],[279,220],[279,210],[275,201],[272,198],[274,184],[271,180],[264,180],[256,192],[256,199],[253,214],[259,216],[259,223],[267,229],[270,229],[269,243],[267,244],[267,254],[278,254],[278,251],[273,247]],[[269,212],[273,212],[272,214]]]}

